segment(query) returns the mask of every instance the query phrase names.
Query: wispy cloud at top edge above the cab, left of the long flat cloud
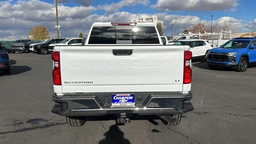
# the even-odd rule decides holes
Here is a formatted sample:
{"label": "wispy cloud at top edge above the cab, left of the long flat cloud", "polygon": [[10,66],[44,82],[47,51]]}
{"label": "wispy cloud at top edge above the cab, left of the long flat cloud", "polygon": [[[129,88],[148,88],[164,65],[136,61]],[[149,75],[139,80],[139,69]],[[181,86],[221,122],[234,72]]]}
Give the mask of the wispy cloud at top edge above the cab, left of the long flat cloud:
{"label": "wispy cloud at top edge above the cab, left of the long flat cloud", "polygon": [[117,12],[118,9],[124,6],[135,6],[137,4],[146,6],[149,4],[149,0],[121,0],[118,3],[99,5],[98,8],[100,10],[105,10],[106,13],[111,13],[111,12]]}

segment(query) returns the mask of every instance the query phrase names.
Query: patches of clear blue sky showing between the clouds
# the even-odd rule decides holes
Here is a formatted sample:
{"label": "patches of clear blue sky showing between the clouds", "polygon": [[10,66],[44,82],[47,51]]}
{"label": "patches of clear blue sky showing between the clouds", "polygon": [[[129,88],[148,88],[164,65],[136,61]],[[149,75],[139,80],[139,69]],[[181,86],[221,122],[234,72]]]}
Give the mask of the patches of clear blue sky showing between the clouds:
{"label": "patches of clear blue sky showing between the clouds", "polygon": [[[43,0],[48,3],[53,3],[53,0]],[[97,7],[102,4],[111,4],[117,3],[120,0],[94,0],[92,6]],[[126,11],[130,13],[141,13],[141,14],[155,14],[162,11],[151,8],[150,5],[156,4],[157,0],[150,0],[150,3],[147,6],[136,5],[132,7],[123,7],[119,9],[119,12]],[[62,3],[65,6],[80,6],[81,4],[75,3],[73,0],[69,0],[67,3]],[[167,12],[168,14],[178,14],[178,15],[192,15],[198,16],[201,19],[211,20],[211,15],[214,15],[213,19],[218,19],[223,16],[234,17],[236,19],[246,20],[244,23],[254,20],[256,17],[253,16],[256,12],[256,0],[239,0],[238,6],[235,7],[235,12],[230,12],[230,9],[227,10],[212,10],[212,11],[172,11]],[[104,14],[104,10],[98,10],[93,12],[95,14]]]}

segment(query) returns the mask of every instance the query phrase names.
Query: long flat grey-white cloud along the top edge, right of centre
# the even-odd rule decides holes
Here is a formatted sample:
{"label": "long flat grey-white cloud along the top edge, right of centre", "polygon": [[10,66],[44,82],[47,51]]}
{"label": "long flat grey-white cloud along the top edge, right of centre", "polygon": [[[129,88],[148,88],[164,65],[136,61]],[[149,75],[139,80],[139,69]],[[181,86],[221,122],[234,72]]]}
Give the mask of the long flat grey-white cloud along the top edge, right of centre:
{"label": "long flat grey-white cloud along the top edge, right of centre", "polygon": [[227,10],[238,5],[239,0],[158,0],[152,8],[161,11]]}

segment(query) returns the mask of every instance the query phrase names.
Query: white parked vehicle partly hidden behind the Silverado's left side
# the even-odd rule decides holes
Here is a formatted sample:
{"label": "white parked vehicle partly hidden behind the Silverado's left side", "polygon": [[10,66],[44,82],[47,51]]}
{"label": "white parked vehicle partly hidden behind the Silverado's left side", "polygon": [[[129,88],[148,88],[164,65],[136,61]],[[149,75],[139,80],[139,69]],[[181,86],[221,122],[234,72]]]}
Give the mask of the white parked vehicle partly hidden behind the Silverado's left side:
{"label": "white parked vehicle partly hidden behind the Silverado's left side", "polygon": [[49,52],[53,52],[54,46],[65,46],[65,45],[82,45],[82,40],[83,38],[70,38],[70,39],[65,39],[62,42],[58,44],[50,44],[49,45]]}

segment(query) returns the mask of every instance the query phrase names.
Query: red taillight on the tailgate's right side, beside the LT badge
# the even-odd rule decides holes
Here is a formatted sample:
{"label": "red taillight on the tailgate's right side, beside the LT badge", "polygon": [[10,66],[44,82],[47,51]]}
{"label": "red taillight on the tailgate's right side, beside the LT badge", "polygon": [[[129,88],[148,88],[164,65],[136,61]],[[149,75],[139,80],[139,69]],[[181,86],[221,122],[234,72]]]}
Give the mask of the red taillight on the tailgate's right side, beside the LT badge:
{"label": "red taillight on the tailgate's right side, beside the LT badge", "polygon": [[190,66],[190,60],[192,58],[192,52],[184,51],[184,72],[183,72],[183,84],[190,84],[192,78],[192,70]]}

